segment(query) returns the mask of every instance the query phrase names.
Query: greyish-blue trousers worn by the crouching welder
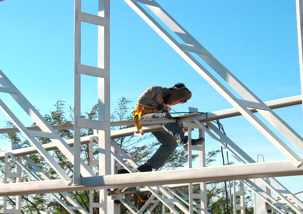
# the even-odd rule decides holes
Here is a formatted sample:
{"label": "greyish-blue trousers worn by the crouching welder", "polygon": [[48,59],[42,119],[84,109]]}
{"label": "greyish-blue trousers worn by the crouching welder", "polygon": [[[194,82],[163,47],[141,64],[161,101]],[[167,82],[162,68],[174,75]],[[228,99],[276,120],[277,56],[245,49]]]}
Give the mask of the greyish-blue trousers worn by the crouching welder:
{"label": "greyish-blue trousers worn by the crouching welder", "polygon": [[[141,116],[140,119],[146,120],[159,118],[172,118],[172,116],[168,113],[150,113]],[[185,138],[184,132],[179,127],[177,122],[162,123],[161,125],[164,130],[152,132],[161,145],[155,154],[152,155],[148,161],[146,161],[146,164],[154,169],[159,169],[161,166],[163,166],[165,161],[178,146],[178,143]]]}

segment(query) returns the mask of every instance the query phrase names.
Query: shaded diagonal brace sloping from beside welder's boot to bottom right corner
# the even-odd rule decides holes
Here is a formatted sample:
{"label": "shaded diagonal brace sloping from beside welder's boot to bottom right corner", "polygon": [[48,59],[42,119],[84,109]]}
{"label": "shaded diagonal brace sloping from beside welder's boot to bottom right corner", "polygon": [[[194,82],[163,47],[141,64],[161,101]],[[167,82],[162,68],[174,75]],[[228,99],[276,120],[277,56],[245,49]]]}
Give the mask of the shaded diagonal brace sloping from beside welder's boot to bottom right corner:
{"label": "shaded diagonal brace sloping from beside welder's boot to bottom right corner", "polygon": [[[206,122],[206,125],[208,125],[208,128],[198,120],[194,119],[197,126],[192,125],[195,128],[201,128],[203,129],[209,136],[211,136],[216,142],[218,142],[227,152],[229,152],[236,160],[238,160],[240,163],[255,163],[255,161],[246,154],[240,147],[238,147],[235,142],[233,142],[231,139],[229,139],[223,132],[221,132],[212,122],[208,121]],[[216,135],[218,135],[221,139],[219,139],[214,133],[211,132],[211,130],[215,132]],[[225,145],[227,144],[227,145]],[[237,154],[237,153],[238,154]],[[257,180],[257,179],[256,179]],[[268,178],[266,179],[258,179],[259,182],[262,182],[266,185],[275,195],[277,195],[279,198],[283,199],[285,203],[290,206],[295,212],[297,213],[303,213],[300,208],[303,208],[303,203],[300,199],[298,199],[297,196],[292,194],[288,189],[286,189],[285,186],[283,186],[280,182],[278,182],[275,178]],[[254,192],[259,193],[258,196],[262,198],[272,198],[269,196],[266,192],[264,192],[261,188],[259,188],[256,184],[253,184],[250,180],[241,181],[247,184],[249,188],[251,188]],[[252,184],[251,184],[252,183]],[[252,186],[253,185],[253,186]],[[266,196],[266,197],[264,197]],[[266,201],[268,202],[268,201]],[[297,204],[297,206],[294,205],[294,203]],[[276,200],[273,200],[271,202],[271,206],[274,207],[274,209],[279,210],[287,210],[287,212],[290,212],[288,209],[286,209],[284,206],[282,206],[281,203],[277,203]],[[282,207],[281,207],[282,206]]]}

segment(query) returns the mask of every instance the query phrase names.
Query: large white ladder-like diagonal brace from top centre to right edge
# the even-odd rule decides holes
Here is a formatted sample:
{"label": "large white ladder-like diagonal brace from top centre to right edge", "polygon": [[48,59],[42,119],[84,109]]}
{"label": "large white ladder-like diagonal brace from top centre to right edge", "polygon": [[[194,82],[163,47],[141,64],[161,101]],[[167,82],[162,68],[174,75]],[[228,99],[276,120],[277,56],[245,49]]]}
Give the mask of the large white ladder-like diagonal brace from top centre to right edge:
{"label": "large white ladder-like diagonal brace from top centre to right edge", "polygon": [[[154,0],[125,0],[125,2],[145,22],[148,23],[186,62],[188,62],[206,81],[208,81],[228,102],[231,103],[252,125],[254,125],[270,142],[272,142],[291,162],[300,167],[303,159],[283,142],[267,125],[249,111],[249,107],[257,109],[268,122],[281,132],[292,144],[303,152],[303,139],[261,99],[249,90],[239,79],[224,67],[193,36],[191,36],[174,18],[172,18]],[[139,4],[142,3],[161,19],[185,44],[180,44]],[[218,75],[221,76],[243,99],[239,99],[229,91],[214,75],[211,74],[190,52],[196,53]]]}

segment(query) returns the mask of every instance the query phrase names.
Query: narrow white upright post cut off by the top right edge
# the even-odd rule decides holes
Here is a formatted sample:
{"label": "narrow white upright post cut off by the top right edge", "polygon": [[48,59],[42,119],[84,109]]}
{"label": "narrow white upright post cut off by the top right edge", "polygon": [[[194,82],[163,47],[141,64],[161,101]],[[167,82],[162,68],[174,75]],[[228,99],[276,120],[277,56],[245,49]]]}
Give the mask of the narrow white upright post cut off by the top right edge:
{"label": "narrow white upright post cut off by the top right edge", "polygon": [[[300,66],[300,78],[301,78],[301,94],[303,96],[303,32],[302,32],[302,18],[303,18],[303,4],[302,0],[296,0],[297,11],[297,30],[298,30],[298,48],[299,48],[299,66]],[[303,97],[302,97],[303,98]]]}

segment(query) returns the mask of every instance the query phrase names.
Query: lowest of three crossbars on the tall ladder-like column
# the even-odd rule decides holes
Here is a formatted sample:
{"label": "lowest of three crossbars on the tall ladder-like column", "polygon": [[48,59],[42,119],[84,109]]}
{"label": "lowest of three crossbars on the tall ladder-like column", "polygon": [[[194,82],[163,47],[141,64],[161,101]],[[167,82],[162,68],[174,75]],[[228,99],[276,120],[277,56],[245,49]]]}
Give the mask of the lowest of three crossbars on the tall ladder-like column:
{"label": "lowest of three crossbars on the tall ladder-like column", "polygon": [[77,128],[88,128],[88,129],[110,131],[110,122],[108,121],[92,120],[92,119],[77,117],[76,124],[77,124]]}

